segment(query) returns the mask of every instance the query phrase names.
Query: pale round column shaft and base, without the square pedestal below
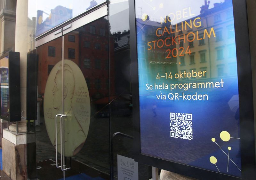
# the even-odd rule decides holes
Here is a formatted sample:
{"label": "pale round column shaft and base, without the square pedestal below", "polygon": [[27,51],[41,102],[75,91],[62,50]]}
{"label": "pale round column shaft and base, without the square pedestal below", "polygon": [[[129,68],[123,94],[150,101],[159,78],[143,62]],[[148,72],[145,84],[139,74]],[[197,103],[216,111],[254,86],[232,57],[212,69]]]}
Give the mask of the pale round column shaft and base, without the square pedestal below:
{"label": "pale round column shaft and base, without the square pedestal below", "polygon": [[[27,47],[28,47],[28,0],[17,0],[15,51],[20,52],[20,108],[22,116],[26,118],[26,90],[27,90]],[[25,119],[18,122],[19,132],[27,132]],[[16,132],[16,123],[9,129]]]}

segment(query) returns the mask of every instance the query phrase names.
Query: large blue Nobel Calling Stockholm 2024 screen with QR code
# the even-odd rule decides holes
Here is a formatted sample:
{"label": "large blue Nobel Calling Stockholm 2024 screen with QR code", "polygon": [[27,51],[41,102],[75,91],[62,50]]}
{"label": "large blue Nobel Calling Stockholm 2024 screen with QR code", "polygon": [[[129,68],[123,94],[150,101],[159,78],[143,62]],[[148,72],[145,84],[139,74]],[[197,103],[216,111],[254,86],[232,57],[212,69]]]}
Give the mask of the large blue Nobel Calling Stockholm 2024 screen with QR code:
{"label": "large blue Nobel Calling Stockholm 2024 screen with QR code", "polygon": [[241,177],[232,0],[135,0],[140,153]]}

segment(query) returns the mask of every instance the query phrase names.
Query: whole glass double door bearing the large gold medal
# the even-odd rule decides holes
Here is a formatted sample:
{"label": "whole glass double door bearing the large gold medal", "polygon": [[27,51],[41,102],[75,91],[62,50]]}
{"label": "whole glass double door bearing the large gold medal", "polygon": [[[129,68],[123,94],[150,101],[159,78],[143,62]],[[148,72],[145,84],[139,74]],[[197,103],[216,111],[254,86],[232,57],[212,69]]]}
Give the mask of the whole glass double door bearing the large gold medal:
{"label": "whole glass double door bearing the large gold medal", "polygon": [[82,17],[40,43],[37,178],[110,179],[108,18]]}

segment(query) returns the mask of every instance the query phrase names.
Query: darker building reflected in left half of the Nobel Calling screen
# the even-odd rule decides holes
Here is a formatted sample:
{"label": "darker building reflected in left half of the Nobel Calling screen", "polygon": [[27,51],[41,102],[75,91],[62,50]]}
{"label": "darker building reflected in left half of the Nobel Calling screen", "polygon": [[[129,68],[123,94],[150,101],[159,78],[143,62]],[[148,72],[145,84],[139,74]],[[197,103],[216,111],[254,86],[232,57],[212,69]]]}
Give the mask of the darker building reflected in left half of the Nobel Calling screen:
{"label": "darker building reflected in left half of the Nobel Calling screen", "polygon": [[[151,21],[148,19],[145,21],[141,20],[140,18],[136,19],[137,26],[139,26],[142,31],[141,40],[138,41],[138,58],[139,58],[139,67],[146,71],[150,71],[151,73],[147,74],[139,74],[139,78],[143,84],[149,81],[149,79],[154,80],[156,79],[157,74],[164,74],[165,73],[176,73],[177,72],[177,58],[166,58],[166,48],[158,48],[148,50],[148,42],[156,39],[156,31],[158,28],[161,28],[164,25],[161,25],[159,22]],[[171,24],[170,24],[171,25]],[[159,31],[159,30],[158,30]],[[162,30],[163,31],[163,30]],[[162,32],[159,32],[162,33]],[[138,34],[140,35],[140,34]],[[167,38],[168,35],[164,35],[161,38]],[[175,45],[170,46],[170,49],[175,48]],[[145,71],[145,72],[146,72]],[[148,77],[148,74],[151,77]]]}

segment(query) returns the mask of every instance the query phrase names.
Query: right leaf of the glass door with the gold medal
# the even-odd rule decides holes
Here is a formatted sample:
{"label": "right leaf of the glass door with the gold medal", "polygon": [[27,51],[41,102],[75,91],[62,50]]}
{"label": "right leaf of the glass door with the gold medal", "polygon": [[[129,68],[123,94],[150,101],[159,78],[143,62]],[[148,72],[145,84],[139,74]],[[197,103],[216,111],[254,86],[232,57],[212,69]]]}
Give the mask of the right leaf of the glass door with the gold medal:
{"label": "right leaf of the glass door with the gold medal", "polygon": [[70,178],[109,179],[107,17],[64,35],[63,63],[65,168]]}

